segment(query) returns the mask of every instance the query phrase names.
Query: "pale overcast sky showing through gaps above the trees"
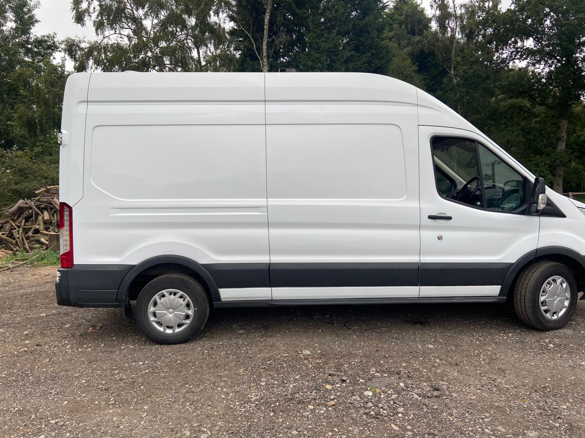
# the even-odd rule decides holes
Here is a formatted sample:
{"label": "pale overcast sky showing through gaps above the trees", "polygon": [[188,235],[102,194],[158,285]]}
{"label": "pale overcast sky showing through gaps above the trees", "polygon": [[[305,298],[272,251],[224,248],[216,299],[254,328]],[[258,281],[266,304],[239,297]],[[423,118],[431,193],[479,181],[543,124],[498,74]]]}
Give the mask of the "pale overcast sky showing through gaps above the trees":
{"label": "pale overcast sky showing through gaps above the trees", "polygon": [[[194,0],[197,1],[197,0]],[[425,5],[428,0],[424,0]],[[502,0],[503,8],[510,6],[511,0]],[[40,0],[40,8],[37,9],[37,19],[40,23],[35,29],[38,33],[57,33],[59,39],[65,37],[95,38],[93,28],[76,25],[71,18],[71,0]]]}

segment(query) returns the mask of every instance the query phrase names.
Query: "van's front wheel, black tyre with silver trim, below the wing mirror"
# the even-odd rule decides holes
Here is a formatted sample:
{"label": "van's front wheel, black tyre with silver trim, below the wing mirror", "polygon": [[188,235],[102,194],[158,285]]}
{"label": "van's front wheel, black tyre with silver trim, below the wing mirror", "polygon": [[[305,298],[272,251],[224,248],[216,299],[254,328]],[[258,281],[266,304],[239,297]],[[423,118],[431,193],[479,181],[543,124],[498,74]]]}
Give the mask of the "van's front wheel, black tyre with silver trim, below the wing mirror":
{"label": "van's front wheel, black tyre with silver trim, below the wing mirror", "polygon": [[569,268],[556,262],[536,262],[516,281],[514,308],[524,324],[556,330],[573,318],[577,295],[577,282]]}

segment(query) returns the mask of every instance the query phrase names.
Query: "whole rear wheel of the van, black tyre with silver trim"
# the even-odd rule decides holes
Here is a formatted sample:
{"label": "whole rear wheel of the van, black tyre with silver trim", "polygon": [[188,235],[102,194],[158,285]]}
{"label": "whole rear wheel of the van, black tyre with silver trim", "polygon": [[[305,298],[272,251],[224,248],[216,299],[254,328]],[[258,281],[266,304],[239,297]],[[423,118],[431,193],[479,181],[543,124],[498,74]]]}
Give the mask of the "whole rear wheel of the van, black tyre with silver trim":
{"label": "whole rear wheel of the van, black tyre with silver trim", "polygon": [[160,344],[187,342],[209,317],[209,299],[197,281],[184,274],[164,274],[150,281],[136,300],[136,322]]}

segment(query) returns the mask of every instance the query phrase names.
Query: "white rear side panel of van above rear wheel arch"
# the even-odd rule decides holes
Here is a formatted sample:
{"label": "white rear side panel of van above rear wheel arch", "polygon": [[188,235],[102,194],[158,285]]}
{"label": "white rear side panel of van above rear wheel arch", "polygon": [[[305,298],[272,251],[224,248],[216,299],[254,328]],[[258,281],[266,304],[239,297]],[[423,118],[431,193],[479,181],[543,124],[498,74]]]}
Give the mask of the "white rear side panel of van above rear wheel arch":
{"label": "white rear side panel of van above rear wheel arch", "polygon": [[269,261],[264,81],[224,78],[94,73],[75,263]]}

